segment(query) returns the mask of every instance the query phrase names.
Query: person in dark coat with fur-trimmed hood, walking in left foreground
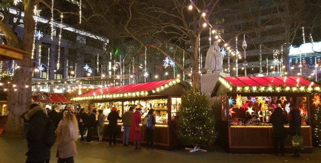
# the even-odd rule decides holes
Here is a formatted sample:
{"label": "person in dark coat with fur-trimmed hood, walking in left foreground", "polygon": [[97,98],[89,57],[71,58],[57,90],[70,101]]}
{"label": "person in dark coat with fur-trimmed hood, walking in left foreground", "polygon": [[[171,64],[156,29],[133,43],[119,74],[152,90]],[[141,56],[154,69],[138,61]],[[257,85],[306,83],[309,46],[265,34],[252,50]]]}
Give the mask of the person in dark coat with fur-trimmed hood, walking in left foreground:
{"label": "person in dark coat with fur-trimmed hood, walking in left foreground", "polygon": [[28,156],[26,163],[34,162],[49,162],[50,148],[45,144],[44,136],[49,120],[47,111],[38,104],[31,104],[29,112],[25,115],[27,120],[30,120],[30,125],[27,131],[28,141]]}

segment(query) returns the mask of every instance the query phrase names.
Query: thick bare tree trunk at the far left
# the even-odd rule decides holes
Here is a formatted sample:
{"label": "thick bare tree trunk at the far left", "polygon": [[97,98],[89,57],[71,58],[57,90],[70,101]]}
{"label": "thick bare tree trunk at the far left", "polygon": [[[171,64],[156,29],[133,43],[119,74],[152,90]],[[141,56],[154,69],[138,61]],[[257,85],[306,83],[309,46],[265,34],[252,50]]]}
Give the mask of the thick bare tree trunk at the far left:
{"label": "thick bare tree trunk at the far left", "polygon": [[[25,54],[22,60],[17,61],[17,64],[20,66],[20,68],[15,71],[10,87],[11,89],[9,89],[10,91],[7,102],[9,112],[8,120],[4,126],[4,131],[2,134],[22,134],[23,120],[21,115],[29,108],[31,103],[31,51],[33,44],[33,31],[35,28],[35,20],[33,20],[32,16],[36,1],[29,0],[24,3],[25,16],[23,18],[23,38],[20,47],[17,48],[21,48],[22,50],[27,51],[29,54]],[[13,84],[15,84],[16,87],[13,87]],[[26,85],[28,88],[26,88]]]}

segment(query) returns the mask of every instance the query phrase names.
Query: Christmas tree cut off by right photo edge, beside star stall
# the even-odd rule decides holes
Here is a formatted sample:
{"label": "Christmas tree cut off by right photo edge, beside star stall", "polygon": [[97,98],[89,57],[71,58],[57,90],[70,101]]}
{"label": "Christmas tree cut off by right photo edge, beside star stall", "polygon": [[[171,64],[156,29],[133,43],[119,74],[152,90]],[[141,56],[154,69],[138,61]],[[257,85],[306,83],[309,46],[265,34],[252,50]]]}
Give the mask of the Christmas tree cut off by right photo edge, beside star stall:
{"label": "Christmas tree cut off by right photo edge, beside star stall", "polygon": [[321,106],[312,107],[313,118],[312,118],[312,134],[313,134],[313,145],[321,146]]}

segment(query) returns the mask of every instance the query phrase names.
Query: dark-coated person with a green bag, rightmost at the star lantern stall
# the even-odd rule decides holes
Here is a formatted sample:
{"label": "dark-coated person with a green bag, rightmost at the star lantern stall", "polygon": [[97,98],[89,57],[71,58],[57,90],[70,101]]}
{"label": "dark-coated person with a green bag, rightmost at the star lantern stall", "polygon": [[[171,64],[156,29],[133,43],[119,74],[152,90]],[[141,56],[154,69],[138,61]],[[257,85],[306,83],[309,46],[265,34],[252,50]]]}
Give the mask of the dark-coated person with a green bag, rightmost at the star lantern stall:
{"label": "dark-coated person with a green bag, rightmost at the star lantern stall", "polygon": [[[289,127],[289,135],[291,136],[301,136],[301,115],[300,110],[295,108],[294,104],[290,105],[290,114],[291,114],[291,121]],[[300,157],[300,149],[296,149],[294,152],[293,157]]]}

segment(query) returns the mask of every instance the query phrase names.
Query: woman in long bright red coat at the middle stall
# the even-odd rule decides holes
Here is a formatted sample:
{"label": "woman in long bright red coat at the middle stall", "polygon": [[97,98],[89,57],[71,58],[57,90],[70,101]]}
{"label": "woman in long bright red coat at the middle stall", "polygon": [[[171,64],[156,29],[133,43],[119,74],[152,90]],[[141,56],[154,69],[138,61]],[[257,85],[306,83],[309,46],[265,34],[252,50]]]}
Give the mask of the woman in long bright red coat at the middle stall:
{"label": "woman in long bright red coat at the middle stall", "polygon": [[136,111],[132,115],[132,123],[130,126],[130,135],[129,139],[134,140],[135,149],[142,149],[140,147],[140,140],[142,139],[141,131],[136,131],[136,128],[140,129],[139,124],[142,122],[141,119],[141,108],[136,108]]}

